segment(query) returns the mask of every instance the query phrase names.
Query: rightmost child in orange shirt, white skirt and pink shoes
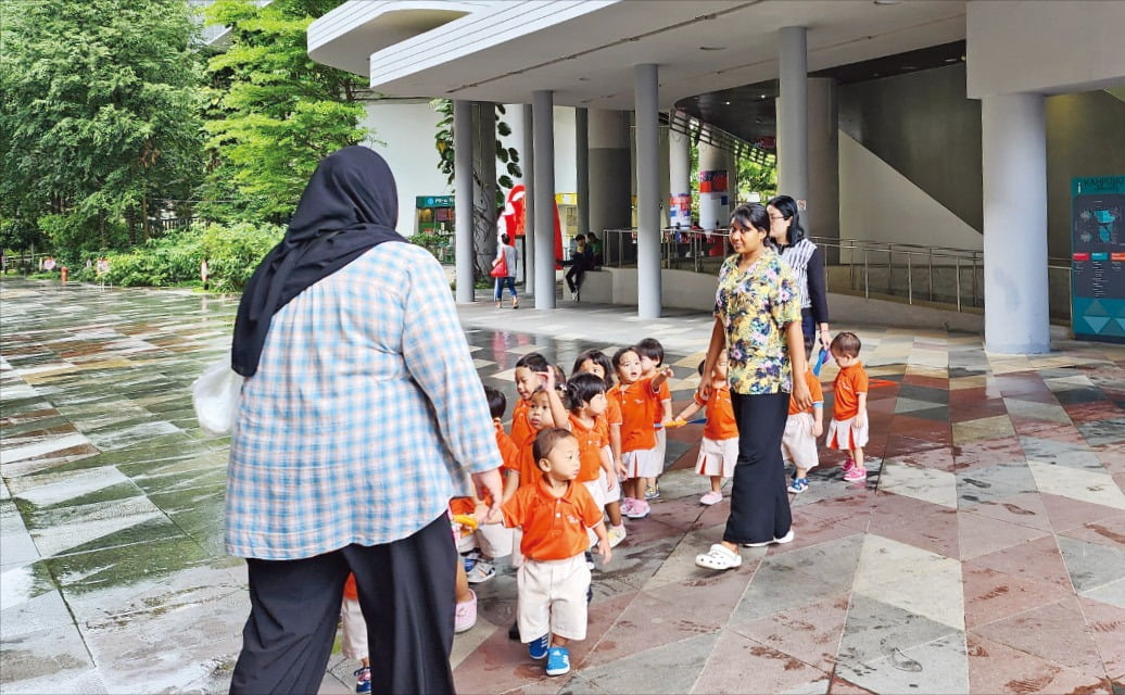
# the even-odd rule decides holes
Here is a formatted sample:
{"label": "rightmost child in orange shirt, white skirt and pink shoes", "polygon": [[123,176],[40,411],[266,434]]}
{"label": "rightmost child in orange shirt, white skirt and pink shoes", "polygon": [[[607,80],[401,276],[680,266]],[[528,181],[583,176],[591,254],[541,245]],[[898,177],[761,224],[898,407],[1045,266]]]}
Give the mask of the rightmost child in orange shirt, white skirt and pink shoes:
{"label": "rightmost child in orange shirt, white skirt and pink shoes", "polygon": [[867,479],[863,466],[863,448],[867,444],[867,372],[860,362],[863,344],[855,333],[840,333],[828,346],[840,371],[832,382],[832,422],[828,425],[825,444],[846,450],[844,479],[848,482]]}

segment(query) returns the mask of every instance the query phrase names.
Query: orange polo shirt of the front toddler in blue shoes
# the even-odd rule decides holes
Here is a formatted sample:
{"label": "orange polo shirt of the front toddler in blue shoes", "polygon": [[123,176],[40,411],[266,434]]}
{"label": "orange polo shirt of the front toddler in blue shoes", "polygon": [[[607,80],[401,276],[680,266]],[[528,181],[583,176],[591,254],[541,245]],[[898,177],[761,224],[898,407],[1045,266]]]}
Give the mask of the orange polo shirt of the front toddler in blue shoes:
{"label": "orange polo shirt of the front toddler in blue shoes", "polygon": [[523,529],[520,552],[531,560],[566,560],[590,548],[587,529],[602,521],[602,511],[585,485],[572,481],[561,497],[547,487],[546,477],[521,486],[503,506],[504,525]]}

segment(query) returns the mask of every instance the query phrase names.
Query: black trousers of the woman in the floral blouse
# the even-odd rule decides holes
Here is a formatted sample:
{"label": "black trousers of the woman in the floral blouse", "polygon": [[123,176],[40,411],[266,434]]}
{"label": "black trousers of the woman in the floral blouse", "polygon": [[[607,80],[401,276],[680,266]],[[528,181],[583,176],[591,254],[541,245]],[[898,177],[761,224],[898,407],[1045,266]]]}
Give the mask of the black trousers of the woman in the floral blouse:
{"label": "black trousers of the woman in the floral blouse", "polygon": [[722,540],[772,541],[789,533],[793,522],[785,491],[785,462],[781,458],[789,394],[731,394],[731,401],[738,423],[738,462]]}

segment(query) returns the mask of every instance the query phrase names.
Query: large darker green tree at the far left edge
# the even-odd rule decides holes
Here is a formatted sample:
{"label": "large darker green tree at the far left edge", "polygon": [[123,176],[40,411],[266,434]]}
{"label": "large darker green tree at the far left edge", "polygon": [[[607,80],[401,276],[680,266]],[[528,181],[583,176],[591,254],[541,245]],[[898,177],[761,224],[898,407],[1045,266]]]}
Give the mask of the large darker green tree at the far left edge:
{"label": "large darker green tree at the far left edge", "polygon": [[186,0],[0,3],[0,243],[136,243],[201,175]]}

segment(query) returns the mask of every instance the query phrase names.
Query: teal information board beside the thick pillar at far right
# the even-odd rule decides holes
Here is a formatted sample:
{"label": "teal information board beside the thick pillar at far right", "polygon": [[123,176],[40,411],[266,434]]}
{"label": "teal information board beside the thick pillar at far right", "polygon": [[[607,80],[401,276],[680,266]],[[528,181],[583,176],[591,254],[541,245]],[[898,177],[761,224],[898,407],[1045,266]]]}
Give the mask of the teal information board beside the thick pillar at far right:
{"label": "teal information board beside the thick pillar at far right", "polygon": [[1125,177],[1071,180],[1071,327],[1125,343]]}

